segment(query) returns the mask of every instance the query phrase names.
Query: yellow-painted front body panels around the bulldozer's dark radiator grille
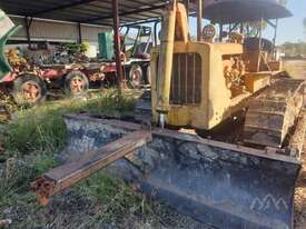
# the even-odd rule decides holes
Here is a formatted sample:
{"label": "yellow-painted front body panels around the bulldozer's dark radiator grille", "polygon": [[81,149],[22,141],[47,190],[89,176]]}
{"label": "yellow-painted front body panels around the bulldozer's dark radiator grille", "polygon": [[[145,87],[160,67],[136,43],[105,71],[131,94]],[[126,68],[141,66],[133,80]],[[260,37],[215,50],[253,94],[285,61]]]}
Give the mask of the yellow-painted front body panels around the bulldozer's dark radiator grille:
{"label": "yellow-painted front body panels around the bulldozer's dark radiator grille", "polygon": [[[174,24],[176,28],[174,42],[171,36],[167,41],[171,50],[167,51],[165,43],[151,51],[151,96],[152,96],[152,118],[158,121],[158,112],[166,111],[166,123],[171,126],[188,126],[197,129],[211,129],[228,118],[233,112],[246,107],[246,101],[251,94],[269,83],[270,73],[250,73],[246,74],[246,82],[240,93],[235,94],[227,86],[224,73],[224,57],[245,57],[243,44],[240,43],[213,43],[195,42],[187,40],[188,24],[185,8],[179,4],[175,11],[168,12],[166,26],[169,30]],[[174,19],[174,13],[176,18]],[[165,38],[165,36],[164,36]],[[160,51],[161,50],[161,51]],[[177,53],[198,53],[201,57],[201,101],[198,104],[171,104],[170,87],[171,70],[178,68],[172,66],[172,54]],[[169,57],[171,54],[171,57]],[[160,58],[158,58],[160,57]],[[162,58],[162,61],[160,59]],[[159,63],[158,63],[159,59]],[[170,62],[169,62],[170,61]],[[158,68],[158,64],[161,64]],[[165,69],[168,69],[167,71]],[[157,79],[157,76],[159,78]],[[158,96],[159,94],[159,96]]]}

